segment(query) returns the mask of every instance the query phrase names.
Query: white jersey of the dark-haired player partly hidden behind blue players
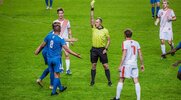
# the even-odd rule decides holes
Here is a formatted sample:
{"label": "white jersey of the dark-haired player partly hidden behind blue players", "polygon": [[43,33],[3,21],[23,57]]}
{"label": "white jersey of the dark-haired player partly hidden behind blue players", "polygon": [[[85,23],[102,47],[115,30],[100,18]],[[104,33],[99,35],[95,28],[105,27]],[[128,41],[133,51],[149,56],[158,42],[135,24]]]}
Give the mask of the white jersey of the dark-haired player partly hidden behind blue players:
{"label": "white jersey of the dark-haired player partly hidden behind blue players", "polygon": [[[61,27],[63,26],[63,23],[64,23],[64,20],[63,21],[59,21],[58,19],[57,20],[55,20],[55,21],[53,21],[53,22],[59,22],[59,23],[61,23]],[[69,37],[68,37],[68,29],[70,28],[70,22],[68,21],[68,23],[67,23],[67,25],[66,25],[66,28],[65,28],[65,30],[64,30],[64,32],[63,32],[63,34],[62,34],[62,36],[61,37],[63,37],[64,39],[68,39]]]}

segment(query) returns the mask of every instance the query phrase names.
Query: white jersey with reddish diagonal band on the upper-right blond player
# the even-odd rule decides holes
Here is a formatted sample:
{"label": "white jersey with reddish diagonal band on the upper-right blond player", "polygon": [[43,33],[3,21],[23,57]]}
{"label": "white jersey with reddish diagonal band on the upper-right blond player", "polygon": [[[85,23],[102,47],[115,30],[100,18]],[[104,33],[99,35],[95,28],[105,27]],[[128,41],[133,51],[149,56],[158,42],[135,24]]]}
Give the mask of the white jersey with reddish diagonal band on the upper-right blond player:
{"label": "white jersey with reddish diagonal band on the upper-right blond player", "polygon": [[160,18],[160,32],[172,31],[172,21],[169,21],[175,14],[172,9],[158,11],[158,18]]}

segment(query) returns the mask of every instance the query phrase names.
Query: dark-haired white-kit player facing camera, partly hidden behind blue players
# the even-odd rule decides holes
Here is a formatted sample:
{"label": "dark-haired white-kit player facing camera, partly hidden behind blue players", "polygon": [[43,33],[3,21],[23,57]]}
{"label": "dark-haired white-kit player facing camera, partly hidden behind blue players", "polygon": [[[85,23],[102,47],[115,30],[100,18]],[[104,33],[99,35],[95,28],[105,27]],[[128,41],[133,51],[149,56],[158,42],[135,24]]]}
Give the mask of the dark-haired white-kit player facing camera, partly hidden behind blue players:
{"label": "dark-haired white-kit player facing camera, partly hidden behind blue players", "polygon": [[[57,9],[57,14],[58,14],[59,18],[57,20],[55,20],[54,22],[61,23],[60,36],[63,37],[64,39],[72,38],[72,31],[71,31],[71,28],[70,28],[70,22],[69,22],[69,20],[64,18],[64,10],[63,10],[63,8],[58,8]],[[69,42],[66,42],[66,44],[69,47]],[[73,45],[73,42],[70,42],[70,44]],[[64,50],[64,53],[65,53],[66,74],[71,75],[69,53],[66,52],[65,50]]]}

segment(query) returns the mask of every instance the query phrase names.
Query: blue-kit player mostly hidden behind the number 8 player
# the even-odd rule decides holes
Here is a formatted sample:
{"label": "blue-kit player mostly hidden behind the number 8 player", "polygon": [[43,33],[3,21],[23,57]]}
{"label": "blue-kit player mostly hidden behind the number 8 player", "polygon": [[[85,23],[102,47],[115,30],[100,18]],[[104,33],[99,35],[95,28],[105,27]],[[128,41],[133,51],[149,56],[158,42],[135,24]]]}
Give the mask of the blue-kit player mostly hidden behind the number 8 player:
{"label": "blue-kit player mostly hidden behind the number 8 player", "polygon": [[[54,34],[53,30],[50,31],[48,34]],[[76,38],[71,38],[71,39],[66,39],[65,40],[66,42],[76,42],[77,39]],[[47,45],[43,48],[42,50],[42,56],[44,58],[44,62],[45,62],[45,65],[48,64],[48,61],[47,61]],[[46,68],[42,75],[36,80],[36,82],[41,86],[43,87],[43,84],[42,84],[42,80],[49,74],[49,68]],[[53,73],[50,73],[50,86],[49,86],[49,89],[53,89],[53,79],[54,79],[54,74]]]}

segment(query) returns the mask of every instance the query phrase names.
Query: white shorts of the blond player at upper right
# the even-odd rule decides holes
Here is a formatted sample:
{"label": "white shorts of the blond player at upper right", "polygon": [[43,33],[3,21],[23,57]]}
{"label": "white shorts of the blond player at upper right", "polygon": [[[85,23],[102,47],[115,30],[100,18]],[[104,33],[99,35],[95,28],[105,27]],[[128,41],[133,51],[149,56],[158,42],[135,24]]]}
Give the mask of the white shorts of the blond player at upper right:
{"label": "white shorts of the blond player at upper right", "polygon": [[160,31],[160,39],[163,40],[173,40],[173,32],[172,30],[167,30],[167,31]]}

